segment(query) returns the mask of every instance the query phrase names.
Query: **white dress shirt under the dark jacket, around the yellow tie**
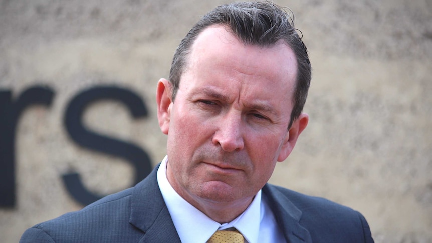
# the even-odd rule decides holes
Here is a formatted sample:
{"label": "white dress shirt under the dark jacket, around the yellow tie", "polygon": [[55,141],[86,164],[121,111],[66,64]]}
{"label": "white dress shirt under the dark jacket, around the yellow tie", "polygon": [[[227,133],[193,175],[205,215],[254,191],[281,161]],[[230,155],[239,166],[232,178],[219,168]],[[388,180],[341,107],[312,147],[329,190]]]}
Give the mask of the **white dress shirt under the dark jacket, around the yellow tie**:
{"label": "white dress shirt under the dark jacket, around the yellow tie", "polygon": [[167,163],[165,156],[157,171],[157,182],[182,243],[205,243],[215,231],[231,227],[242,233],[248,243],[286,242],[273,212],[261,198],[261,190],[240,216],[220,224],[178,195],[166,178]]}

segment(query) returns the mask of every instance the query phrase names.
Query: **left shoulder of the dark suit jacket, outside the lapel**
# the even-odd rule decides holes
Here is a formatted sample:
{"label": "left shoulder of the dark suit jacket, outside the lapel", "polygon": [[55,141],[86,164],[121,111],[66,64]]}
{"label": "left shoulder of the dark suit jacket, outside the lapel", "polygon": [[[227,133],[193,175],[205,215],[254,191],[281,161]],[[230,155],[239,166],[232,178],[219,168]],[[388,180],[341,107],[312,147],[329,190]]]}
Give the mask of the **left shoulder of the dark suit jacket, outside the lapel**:
{"label": "left shoulder of the dark suit jacket, outside the lapel", "polygon": [[[133,233],[128,221],[133,188],[106,196],[83,209],[39,223],[24,232],[20,242],[115,242],[112,230]],[[109,236],[108,236],[109,235]],[[94,237],[94,238],[93,238]],[[102,237],[102,238],[101,238]],[[114,241],[112,241],[114,240]],[[121,241],[121,239],[119,239]]]}

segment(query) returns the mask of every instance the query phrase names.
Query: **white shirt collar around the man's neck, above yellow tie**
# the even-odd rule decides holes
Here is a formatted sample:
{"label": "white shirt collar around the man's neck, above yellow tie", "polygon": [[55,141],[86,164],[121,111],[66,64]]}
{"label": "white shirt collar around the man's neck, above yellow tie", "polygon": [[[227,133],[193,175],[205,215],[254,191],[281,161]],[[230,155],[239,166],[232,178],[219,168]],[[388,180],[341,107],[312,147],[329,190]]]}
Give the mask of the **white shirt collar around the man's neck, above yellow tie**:
{"label": "white shirt collar around the man's neck, above yellow tie", "polygon": [[181,242],[207,242],[216,230],[231,227],[239,230],[247,242],[258,242],[260,221],[263,218],[261,190],[240,216],[229,223],[220,224],[177,194],[166,178],[167,162],[168,157],[165,156],[157,171],[157,182]]}

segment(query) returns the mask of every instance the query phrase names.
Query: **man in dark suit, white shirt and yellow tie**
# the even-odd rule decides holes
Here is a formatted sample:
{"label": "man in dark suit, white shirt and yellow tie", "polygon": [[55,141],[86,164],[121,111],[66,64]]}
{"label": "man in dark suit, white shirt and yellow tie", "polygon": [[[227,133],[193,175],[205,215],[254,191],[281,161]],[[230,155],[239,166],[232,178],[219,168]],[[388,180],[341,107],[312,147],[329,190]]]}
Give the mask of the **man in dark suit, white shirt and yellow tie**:
{"label": "man in dark suit, white shirt and yellow tie", "polygon": [[167,156],[135,187],[22,242],[373,242],[364,217],[267,184],[308,124],[306,47],[272,3],[233,3],[181,41],[156,91]]}

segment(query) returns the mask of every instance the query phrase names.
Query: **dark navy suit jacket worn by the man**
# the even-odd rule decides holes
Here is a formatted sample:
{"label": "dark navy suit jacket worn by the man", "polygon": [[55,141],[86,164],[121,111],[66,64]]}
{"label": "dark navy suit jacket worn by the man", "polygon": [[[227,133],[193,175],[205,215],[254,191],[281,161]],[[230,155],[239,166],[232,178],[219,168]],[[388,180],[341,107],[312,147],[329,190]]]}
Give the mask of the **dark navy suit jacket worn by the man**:
{"label": "dark navy suit jacket worn by the man", "polygon": [[[20,242],[180,242],[156,171],[133,188],[27,229]],[[287,242],[373,242],[364,217],[350,208],[270,184],[263,196]]]}

